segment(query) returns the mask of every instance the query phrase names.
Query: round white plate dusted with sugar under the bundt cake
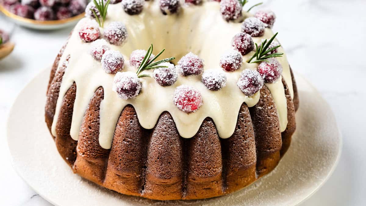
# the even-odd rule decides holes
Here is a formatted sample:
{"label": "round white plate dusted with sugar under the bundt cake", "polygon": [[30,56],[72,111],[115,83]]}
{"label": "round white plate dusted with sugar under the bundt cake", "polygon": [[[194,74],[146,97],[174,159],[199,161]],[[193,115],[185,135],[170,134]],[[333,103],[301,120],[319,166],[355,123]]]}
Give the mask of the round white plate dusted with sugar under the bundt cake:
{"label": "round white plate dusted with sugar under the bundt cake", "polygon": [[54,205],[296,205],[317,191],[340,157],[341,135],[329,105],[296,75],[300,108],[290,149],[270,174],[233,194],[198,201],[152,201],[118,194],[72,173],[57,152],[44,121],[50,68],[20,92],[7,135],[15,170]]}

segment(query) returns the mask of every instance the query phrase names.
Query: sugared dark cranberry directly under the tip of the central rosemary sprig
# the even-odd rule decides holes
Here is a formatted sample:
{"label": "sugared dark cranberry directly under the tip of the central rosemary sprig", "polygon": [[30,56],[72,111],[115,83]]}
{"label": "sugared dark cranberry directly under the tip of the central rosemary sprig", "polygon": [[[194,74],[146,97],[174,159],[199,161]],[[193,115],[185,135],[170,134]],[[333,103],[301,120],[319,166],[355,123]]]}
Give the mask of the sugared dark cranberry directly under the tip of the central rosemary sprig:
{"label": "sugared dark cranberry directly under the tip of the central rosemary sprig", "polygon": [[159,67],[154,69],[153,77],[155,81],[161,86],[173,85],[178,79],[178,75],[175,71],[174,65],[172,63],[165,62],[159,64],[158,66],[167,66],[167,67]]}

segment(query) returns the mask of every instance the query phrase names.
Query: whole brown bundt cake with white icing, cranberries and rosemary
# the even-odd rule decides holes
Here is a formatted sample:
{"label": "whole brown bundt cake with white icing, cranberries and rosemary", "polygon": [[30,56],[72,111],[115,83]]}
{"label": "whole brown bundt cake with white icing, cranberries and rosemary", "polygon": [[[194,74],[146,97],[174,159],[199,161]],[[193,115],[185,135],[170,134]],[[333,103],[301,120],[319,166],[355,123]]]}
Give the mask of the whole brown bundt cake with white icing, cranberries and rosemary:
{"label": "whole brown bundt cake with white icing, cranberries and rosemary", "polygon": [[244,12],[245,2],[90,3],[55,59],[45,106],[74,173],[126,195],[188,200],[273,170],[298,93],[275,14]]}

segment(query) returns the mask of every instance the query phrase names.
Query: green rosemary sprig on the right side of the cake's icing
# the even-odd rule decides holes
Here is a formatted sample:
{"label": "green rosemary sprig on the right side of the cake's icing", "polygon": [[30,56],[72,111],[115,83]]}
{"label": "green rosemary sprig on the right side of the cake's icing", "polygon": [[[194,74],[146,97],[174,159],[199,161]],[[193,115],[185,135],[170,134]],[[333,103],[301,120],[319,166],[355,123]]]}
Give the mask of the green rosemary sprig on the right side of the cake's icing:
{"label": "green rosemary sprig on the right side of the cake's icing", "polygon": [[[269,41],[264,40],[260,47],[258,47],[258,44],[255,43],[255,53],[247,62],[248,63],[259,63],[259,62],[263,62],[263,61],[268,62],[268,60],[266,60],[266,59],[273,58],[273,57],[281,57],[283,55],[283,53],[276,52],[274,54],[268,54],[269,52],[281,47],[281,45],[278,45],[276,47],[272,47],[272,48],[268,49],[269,45],[276,38],[277,34],[278,34],[278,32],[275,35],[273,35],[273,37],[270,38]],[[254,57],[256,58],[256,60],[252,62],[251,60],[253,60]]]}

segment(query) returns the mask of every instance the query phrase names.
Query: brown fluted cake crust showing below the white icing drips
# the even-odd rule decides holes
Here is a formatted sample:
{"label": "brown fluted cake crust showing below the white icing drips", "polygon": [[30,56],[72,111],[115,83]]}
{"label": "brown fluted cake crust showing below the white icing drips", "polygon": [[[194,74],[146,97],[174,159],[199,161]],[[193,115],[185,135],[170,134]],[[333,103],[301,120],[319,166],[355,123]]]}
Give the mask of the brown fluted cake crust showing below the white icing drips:
{"label": "brown fluted cake crust showing below the white icing drips", "polygon": [[[45,117],[50,130],[65,69],[61,66],[56,71],[47,93]],[[98,140],[102,87],[90,100],[78,141],[71,139],[74,83],[64,95],[57,117],[56,146],[75,173],[122,194],[158,200],[220,196],[269,173],[287,151],[296,127],[294,103],[298,93],[293,80],[292,101],[283,84],[288,125],[282,133],[272,95],[264,86],[254,107],[242,104],[234,134],[228,139],[219,137],[210,118],[202,122],[194,137],[184,139],[168,112],[161,114],[154,129],[144,129],[135,109],[128,105],[118,119],[112,147],[106,150]]]}

